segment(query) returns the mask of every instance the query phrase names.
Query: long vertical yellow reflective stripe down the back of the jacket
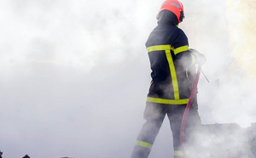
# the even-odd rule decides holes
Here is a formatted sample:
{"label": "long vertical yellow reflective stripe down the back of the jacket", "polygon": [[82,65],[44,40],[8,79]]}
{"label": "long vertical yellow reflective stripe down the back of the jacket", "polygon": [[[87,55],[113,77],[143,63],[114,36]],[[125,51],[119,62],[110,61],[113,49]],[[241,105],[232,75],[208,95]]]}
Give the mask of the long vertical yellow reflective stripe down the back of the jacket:
{"label": "long vertical yellow reflective stripe down the back of the jacket", "polygon": [[170,72],[171,72],[171,76],[172,76],[172,86],[173,86],[173,91],[174,91],[174,99],[177,100],[177,99],[179,99],[177,76],[176,76],[176,71],[175,71],[175,67],[174,67],[173,60],[172,60],[172,54],[171,54],[170,50],[166,50],[166,58],[168,60],[169,67],[170,67]]}

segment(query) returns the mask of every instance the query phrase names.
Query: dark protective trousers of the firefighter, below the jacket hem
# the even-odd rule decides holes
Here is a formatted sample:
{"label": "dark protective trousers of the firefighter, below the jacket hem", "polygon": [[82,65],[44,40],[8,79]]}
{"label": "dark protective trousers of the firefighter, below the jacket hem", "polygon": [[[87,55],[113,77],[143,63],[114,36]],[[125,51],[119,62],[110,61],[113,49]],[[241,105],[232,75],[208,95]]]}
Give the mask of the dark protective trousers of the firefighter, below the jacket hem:
{"label": "dark protective trousers of the firefighter, below the jacket hem", "polygon": [[[194,103],[189,110],[185,128],[185,141],[190,145],[191,142],[193,142],[193,138],[190,136],[193,135],[195,128],[201,125],[201,118],[198,114],[196,99],[194,100],[195,101],[193,101]],[[144,110],[144,119],[146,122],[143,124],[143,128],[137,137],[137,142],[132,151],[131,158],[148,157],[152,145],[154,144],[154,139],[159,133],[166,115],[168,116],[172,129],[174,158],[182,158],[183,151],[180,146],[180,128],[185,107],[186,104],[174,105],[147,102]],[[187,155],[189,155],[189,151],[187,152]]]}

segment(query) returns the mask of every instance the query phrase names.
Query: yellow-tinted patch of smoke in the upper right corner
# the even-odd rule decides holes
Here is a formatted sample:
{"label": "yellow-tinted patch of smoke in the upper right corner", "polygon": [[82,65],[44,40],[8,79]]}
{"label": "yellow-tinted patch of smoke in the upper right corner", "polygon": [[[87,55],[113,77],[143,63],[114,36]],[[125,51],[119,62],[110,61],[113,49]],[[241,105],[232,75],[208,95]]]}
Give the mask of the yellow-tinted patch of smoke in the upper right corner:
{"label": "yellow-tinted patch of smoke in the upper right corner", "polygon": [[[256,2],[227,1],[226,17],[229,23],[230,56],[235,58],[232,71],[239,71],[241,79],[253,82],[255,78],[255,44],[253,37],[256,32],[253,16],[256,15]],[[251,80],[251,81],[250,81]],[[253,85],[255,86],[255,85]]]}

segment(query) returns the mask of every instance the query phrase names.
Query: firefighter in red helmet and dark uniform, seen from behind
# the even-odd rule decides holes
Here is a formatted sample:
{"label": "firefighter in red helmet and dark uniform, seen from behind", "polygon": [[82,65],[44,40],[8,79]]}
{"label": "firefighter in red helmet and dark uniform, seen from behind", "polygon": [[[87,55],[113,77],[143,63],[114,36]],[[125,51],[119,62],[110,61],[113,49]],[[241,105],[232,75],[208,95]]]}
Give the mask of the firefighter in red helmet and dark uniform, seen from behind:
{"label": "firefighter in red helmet and dark uniform, seen from behind", "polygon": [[[166,0],[157,14],[158,25],[146,42],[152,82],[144,110],[146,122],[137,137],[131,158],[148,157],[166,115],[172,129],[174,157],[183,157],[180,147],[183,112],[195,81],[195,64],[202,65],[206,62],[203,54],[189,49],[188,38],[178,28],[183,19],[183,4],[177,0]],[[196,96],[186,125],[186,133],[190,134],[193,133],[193,128],[201,125]]]}

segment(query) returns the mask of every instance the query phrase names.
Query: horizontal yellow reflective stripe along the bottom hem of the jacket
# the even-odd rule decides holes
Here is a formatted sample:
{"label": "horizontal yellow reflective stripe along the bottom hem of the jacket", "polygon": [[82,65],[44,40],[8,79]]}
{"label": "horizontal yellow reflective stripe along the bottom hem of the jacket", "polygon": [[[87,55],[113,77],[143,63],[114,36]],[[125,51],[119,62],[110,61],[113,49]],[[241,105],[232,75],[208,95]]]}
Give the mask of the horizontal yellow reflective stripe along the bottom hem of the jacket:
{"label": "horizontal yellow reflective stripe along the bottom hem of the jacket", "polygon": [[189,99],[174,100],[174,99],[159,99],[159,98],[148,97],[147,101],[152,103],[158,103],[158,104],[188,104]]}

